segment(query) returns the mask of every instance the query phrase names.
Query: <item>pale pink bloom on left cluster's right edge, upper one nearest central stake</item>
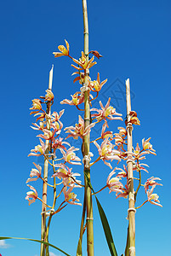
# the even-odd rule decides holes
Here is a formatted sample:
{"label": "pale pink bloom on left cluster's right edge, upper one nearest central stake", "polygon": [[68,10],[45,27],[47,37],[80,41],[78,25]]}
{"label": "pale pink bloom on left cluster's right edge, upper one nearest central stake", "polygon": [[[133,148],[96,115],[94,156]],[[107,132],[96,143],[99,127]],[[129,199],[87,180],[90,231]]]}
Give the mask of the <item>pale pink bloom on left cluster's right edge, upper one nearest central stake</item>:
{"label": "pale pink bloom on left cluster's right edge, upper one nearest central stake", "polygon": [[77,163],[77,161],[81,161],[81,159],[77,157],[77,155],[74,153],[74,151],[77,151],[77,150],[79,150],[79,148],[71,147],[65,152],[62,148],[60,148],[60,152],[63,154],[63,159],[65,160],[65,162],[71,165],[81,166],[82,165],[81,163]]}

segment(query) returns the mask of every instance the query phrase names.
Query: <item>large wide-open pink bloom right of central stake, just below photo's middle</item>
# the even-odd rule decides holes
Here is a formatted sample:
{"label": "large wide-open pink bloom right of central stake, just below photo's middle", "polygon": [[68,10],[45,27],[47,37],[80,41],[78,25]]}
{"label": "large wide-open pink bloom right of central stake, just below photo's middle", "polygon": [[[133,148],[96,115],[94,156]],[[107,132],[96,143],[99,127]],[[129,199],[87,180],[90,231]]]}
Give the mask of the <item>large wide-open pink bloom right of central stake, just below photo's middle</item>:
{"label": "large wide-open pink bloom right of central stake, just below photo's middle", "polygon": [[99,151],[99,154],[100,154],[100,159],[102,159],[104,161],[104,164],[106,166],[109,166],[111,169],[111,164],[106,162],[105,160],[118,160],[120,161],[120,158],[119,158],[119,151],[113,149],[113,145],[109,142],[109,137],[106,137],[105,138],[105,141],[103,141],[101,143],[101,146],[96,143],[94,141],[94,145],[98,148],[98,151]]}

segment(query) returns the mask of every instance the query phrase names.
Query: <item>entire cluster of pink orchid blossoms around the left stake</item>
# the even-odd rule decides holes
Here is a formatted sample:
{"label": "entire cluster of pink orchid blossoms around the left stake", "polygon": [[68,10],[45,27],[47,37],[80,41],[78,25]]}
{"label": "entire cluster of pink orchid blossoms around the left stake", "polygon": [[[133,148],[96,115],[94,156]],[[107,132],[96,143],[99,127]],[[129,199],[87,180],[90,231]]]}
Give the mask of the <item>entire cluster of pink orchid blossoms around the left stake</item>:
{"label": "entire cluster of pink orchid blossoms around the left stake", "polygon": [[[48,165],[52,166],[54,170],[54,174],[52,175],[52,177],[54,177],[54,184],[51,185],[47,182],[42,175],[42,166],[37,165],[36,163],[33,163],[36,168],[31,169],[30,178],[27,179],[26,183],[42,179],[43,183],[46,183],[52,188],[55,188],[60,184],[62,185],[60,194],[55,195],[54,198],[54,201],[56,201],[63,192],[65,200],[62,201],[60,207],[58,207],[57,210],[54,210],[54,205],[53,207],[49,207],[46,204],[46,207],[48,207],[46,214],[49,215],[51,212],[51,214],[54,215],[66,207],[67,203],[72,205],[82,205],[79,203],[77,195],[72,192],[74,188],[81,188],[82,186],[81,181],[76,179],[80,174],[72,173],[72,168],[66,166],[66,164],[81,165],[81,163],[80,158],[75,154],[75,151],[79,150],[79,148],[71,147],[70,143],[64,141],[64,138],[59,137],[63,128],[60,118],[64,113],[64,110],[61,110],[60,113],[54,112],[52,114],[46,113],[43,110],[44,103],[45,105],[49,104],[51,106],[54,102],[53,92],[51,90],[46,90],[46,92],[47,94],[45,96],[41,96],[40,99],[32,100],[32,108],[30,108],[32,110],[31,114],[34,114],[34,116],[37,117],[36,122],[39,121],[39,124],[32,124],[33,126],[31,126],[31,128],[37,131],[42,131],[43,134],[37,135],[37,137],[39,137],[40,144],[38,144],[34,149],[31,149],[29,156],[43,155],[44,159],[48,160]],[[45,143],[43,142],[43,139],[45,140]],[[60,150],[60,154],[62,154],[60,159],[57,158],[57,150]],[[61,161],[63,161],[63,163],[61,163]],[[56,177],[60,183],[56,183]],[[43,202],[43,200],[38,197],[37,190],[29,184],[27,184],[27,186],[32,190],[27,192],[26,195],[26,200],[29,201],[29,205],[37,199]]]}

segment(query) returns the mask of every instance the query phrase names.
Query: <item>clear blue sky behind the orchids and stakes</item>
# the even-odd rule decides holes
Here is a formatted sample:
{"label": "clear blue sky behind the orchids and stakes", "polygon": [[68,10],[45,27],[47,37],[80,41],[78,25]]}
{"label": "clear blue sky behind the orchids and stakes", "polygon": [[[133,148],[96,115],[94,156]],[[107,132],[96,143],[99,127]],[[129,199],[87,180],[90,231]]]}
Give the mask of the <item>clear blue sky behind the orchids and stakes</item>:
{"label": "clear blue sky behind the orchids and stakes", "polygon": [[[162,178],[163,187],[156,192],[161,207],[145,204],[136,212],[136,252],[139,256],[159,256],[170,253],[170,67],[171,67],[171,6],[164,1],[88,1],[89,49],[97,49],[103,58],[91,69],[92,79],[108,79],[100,100],[106,97],[117,111],[126,116],[124,81],[130,79],[132,109],[140,118],[134,127],[134,146],[142,138],[151,137],[157,156],[147,156],[149,176]],[[31,99],[44,94],[48,72],[54,64],[54,111],[66,108],[62,117],[65,126],[77,121],[77,110],[60,105],[60,101],[79,90],[73,84],[71,61],[54,59],[53,51],[64,39],[70,43],[71,55],[78,58],[83,50],[82,1],[54,0],[3,1],[0,7],[1,31],[1,236],[40,238],[41,204],[28,206],[25,200],[26,179],[35,158],[28,158],[37,145],[37,133],[30,128]],[[95,102],[98,105],[98,102]],[[95,106],[96,106],[95,105]],[[110,123],[117,132],[121,121]],[[96,131],[98,133],[98,131]],[[95,131],[94,131],[95,133]],[[79,144],[79,143],[78,143]],[[79,145],[77,145],[79,146]],[[80,154],[81,156],[81,154]],[[41,160],[37,160],[37,162]],[[113,162],[113,166],[116,163]],[[74,168],[74,172],[83,172]],[[102,163],[92,168],[92,184],[97,190],[105,184],[110,169]],[[83,175],[82,175],[83,179]],[[35,184],[41,190],[41,183]],[[124,251],[128,221],[128,201],[115,199],[103,191],[98,198],[105,209],[118,255]],[[142,191],[144,192],[144,191]],[[83,200],[83,190],[78,191]],[[142,193],[138,199],[145,200]],[[82,208],[68,206],[54,217],[49,241],[75,255]],[[86,252],[83,240],[84,255]],[[95,255],[110,255],[94,201]],[[51,256],[60,256],[51,250]],[[39,245],[27,241],[2,241],[3,256],[36,256]],[[55,254],[53,254],[55,253]]]}

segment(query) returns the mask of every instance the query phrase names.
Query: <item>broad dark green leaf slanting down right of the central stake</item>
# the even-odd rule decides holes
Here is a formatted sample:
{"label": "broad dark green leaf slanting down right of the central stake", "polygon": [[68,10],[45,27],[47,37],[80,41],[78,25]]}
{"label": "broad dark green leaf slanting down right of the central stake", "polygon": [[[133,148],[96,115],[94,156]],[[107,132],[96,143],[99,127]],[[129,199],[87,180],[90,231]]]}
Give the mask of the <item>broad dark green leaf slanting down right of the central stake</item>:
{"label": "broad dark green leaf slanting down right of the central stake", "polygon": [[115,247],[112,235],[111,235],[111,229],[110,229],[108,220],[105,216],[105,212],[104,212],[103,208],[101,207],[100,201],[97,199],[96,196],[95,196],[95,199],[96,199],[96,202],[97,202],[98,210],[100,212],[100,219],[101,219],[101,223],[103,225],[103,230],[105,232],[105,238],[106,238],[106,241],[108,243],[108,247],[110,249],[111,256],[117,256],[117,250],[116,250],[116,247]]}

